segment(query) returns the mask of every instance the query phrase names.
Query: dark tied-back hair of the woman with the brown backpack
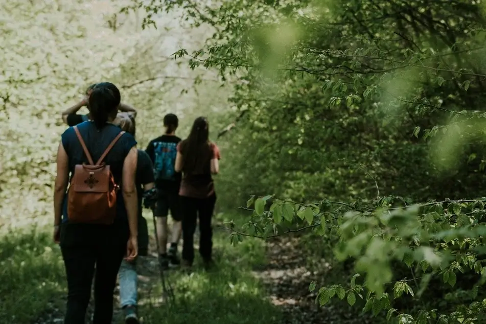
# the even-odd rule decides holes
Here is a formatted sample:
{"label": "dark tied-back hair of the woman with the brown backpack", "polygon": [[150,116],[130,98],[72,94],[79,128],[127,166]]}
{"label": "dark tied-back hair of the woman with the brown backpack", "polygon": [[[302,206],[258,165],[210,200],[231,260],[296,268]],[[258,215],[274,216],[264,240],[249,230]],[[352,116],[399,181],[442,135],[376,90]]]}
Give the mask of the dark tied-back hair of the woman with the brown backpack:
{"label": "dark tied-back hair of the woman with the brown backpack", "polygon": [[98,83],[89,96],[89,113],[98,129],[103,128],[120,105],[120,90],[109,82]]}

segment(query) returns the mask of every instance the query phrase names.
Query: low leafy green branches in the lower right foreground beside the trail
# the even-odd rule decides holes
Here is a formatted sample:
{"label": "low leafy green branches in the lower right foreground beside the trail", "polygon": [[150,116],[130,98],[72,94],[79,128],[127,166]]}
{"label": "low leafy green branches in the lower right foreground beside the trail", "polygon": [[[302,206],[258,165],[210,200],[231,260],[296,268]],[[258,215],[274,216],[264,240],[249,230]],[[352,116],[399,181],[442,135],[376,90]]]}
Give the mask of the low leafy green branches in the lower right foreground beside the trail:
{"label": "low leafy green branches in the lower right foreground beside the trail", "polygon": [[[316,300],[325,305],[333,297],[346,298],[350,305],[363,299],[363,311],[374,315],[387,311],[387,318],[400,323],[439,323],[459,320],[473,323],[486,308],[486,299],[476,300],[478,289],[486,280],[482,256],[486,235],[484,204],[486,198],[428,201],[412,204],[398,196],[382,197],[373,204],[344,203],[322,200],[317,203],[296,203],[273,199],[272,196],[251,197],[244,210],[251,211],[250,220],[241,229],[230,222],[232,244],[244,236],[262,239],[312,229],[321,237],[335,241],[338,260],[356,260],[356,273],[348,287],[331,285],[318,290]],[[253,208],[250,208],[250,207]],[[392,264],[399,262],[418,274],[412,279],[394,279]],[[393,300],[422,295],[431,280],[441,280],[454,287],[458,277],[473,273],[476,283],[469,290],[469,304],[450,314],[437,310],[421,310],[414,316],[400,313]],[[357,283],[359,277],[364,281]],[[420,282],[414,291],[410,282]],[[309,290],[317,288],[313,281]]]}

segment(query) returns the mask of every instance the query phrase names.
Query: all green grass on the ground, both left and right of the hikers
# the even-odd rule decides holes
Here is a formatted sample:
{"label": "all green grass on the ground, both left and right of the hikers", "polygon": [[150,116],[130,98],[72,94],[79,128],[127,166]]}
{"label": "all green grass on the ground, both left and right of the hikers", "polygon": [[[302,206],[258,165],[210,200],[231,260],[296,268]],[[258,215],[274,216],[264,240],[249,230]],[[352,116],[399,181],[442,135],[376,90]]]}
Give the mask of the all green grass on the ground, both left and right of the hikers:
{"label": "all green grass on the ground, both left and right of the hikers", "polygon": [[[245,240],[235,247],[229,244],[228,233],[215,231],[214,255],[214,271],[203,271],[197,266],[198,259],[191,275],[171,271],[169,280],[176,295],[173,305],[158,304],[161,284],[154,274],[151,291],[140,293],[141,302],[145,302],[140,307],[142,322],[277,322],[279,310],[265,298],[265,291],[251,274],[254,266],[265,262],[263,243]],[[0,237],[0,283],[0,324],[31,324],[53,308],[62,310],[64,266],[51,234],[32,230]]]}

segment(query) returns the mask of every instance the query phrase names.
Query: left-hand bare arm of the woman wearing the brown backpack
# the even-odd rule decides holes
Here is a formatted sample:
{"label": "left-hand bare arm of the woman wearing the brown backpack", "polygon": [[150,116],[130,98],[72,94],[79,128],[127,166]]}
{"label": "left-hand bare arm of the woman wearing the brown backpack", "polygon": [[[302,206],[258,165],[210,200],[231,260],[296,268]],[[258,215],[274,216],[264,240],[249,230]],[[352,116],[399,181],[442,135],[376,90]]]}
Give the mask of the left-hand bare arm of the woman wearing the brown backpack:
{"label": "left-hand bare arm of the woman wearing the brown backpack", "polygon": [[54,184],[54,226],[59,226],[62,217],[62,202],[69,181],[68,157],[62,143],[57,149],[57,174]]}

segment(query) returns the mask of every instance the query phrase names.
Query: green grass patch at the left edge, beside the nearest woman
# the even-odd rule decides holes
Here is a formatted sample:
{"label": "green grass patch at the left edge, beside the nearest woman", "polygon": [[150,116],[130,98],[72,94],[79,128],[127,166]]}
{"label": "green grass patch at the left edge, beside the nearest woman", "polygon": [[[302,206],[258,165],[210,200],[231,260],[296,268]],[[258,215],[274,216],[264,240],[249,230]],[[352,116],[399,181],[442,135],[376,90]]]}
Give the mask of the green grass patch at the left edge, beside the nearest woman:
{"label": "green grass patch at the left edge, beside the nearest woman", "polygon": [[0,238],[0,323],[31,323],[64,294],[64,265],[47,232]]}

